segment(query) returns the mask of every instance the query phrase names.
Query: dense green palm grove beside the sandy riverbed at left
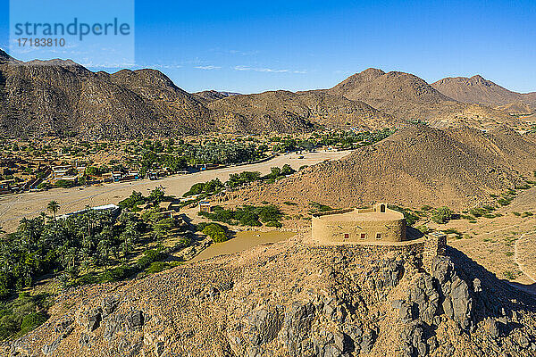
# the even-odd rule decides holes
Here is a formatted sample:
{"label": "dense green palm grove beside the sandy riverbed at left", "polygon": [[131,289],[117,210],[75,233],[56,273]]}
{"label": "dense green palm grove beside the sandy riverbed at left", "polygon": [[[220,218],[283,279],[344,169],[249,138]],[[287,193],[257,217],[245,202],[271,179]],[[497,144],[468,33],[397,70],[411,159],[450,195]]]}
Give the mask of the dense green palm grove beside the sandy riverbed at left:
{"label": "dense green palm grove beside the sandy riverbed at left", "polygon": [[[130,200],[132,197],[138,204],[147,205],[144,213],[125,207],[121,214],[113,214],[87,207],[79,214],[59,219],[60,205],[52,201],[47,205],[50,216],[41,213],[34,219],[24,218],[14,233],[2,232],[0,340],[20,335],[46,320],[46,296],[22,291],[47,274],[54,274],[63,287],[114,281],[150,269],[166,256],[161,245],[141,255],[133,254],[174,228],[174,221],[166,218],[159,206],[163,191],[156,188],[147,197],[137,194]],[[18,298],[15,292],[19,292]]]}

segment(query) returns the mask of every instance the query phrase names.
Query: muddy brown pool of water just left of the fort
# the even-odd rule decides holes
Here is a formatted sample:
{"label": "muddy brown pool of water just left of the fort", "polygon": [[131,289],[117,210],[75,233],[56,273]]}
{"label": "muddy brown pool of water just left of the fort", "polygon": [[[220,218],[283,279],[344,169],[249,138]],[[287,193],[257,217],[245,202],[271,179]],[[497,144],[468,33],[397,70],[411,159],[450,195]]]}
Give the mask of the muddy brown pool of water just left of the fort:
{"label": "muddy brown pool of water just left of the fort", "polygon": [[288,239],[295,235],[296,233],[293,232],[281,232],[278,230],[272,230],[270,232],[257,232],[252,230],[238,232],[236,237],[227,242],[210,245],[190,262],[202,261],[221,254],[242,252],[256,245],[280,242],[281,240]]}

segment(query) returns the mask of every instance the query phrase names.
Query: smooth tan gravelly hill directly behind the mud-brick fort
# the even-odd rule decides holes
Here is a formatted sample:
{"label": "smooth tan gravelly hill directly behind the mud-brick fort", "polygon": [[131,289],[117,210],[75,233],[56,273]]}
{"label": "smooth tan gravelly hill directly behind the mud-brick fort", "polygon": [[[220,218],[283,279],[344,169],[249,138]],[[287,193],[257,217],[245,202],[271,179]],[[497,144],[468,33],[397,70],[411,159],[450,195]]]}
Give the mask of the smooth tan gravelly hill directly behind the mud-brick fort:
{"label": "smooth tan gravelly hill directly behind the mud-brick fort", "polygon": [[[411,126],[338,162],[244,192],[247,200],[314,201],[332,207],[376,201],[467,208],[532,176],[536,145],[509,129]],[[411,189],[408,189],[411,187]]]}

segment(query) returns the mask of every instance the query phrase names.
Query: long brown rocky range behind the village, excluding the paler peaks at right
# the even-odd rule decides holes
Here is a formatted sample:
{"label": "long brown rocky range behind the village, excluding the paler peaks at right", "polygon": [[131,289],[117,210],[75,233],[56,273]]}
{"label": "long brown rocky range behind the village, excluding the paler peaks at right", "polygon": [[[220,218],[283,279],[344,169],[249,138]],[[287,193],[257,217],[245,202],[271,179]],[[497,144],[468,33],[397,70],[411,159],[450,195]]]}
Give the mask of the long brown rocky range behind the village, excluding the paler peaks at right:
{"label": "long brown rocky range behind the village, excluding the paler peaks at right", "polygon": [[0,133],[125,138],[223,131],[308,131],[321,125],[379,129],[400,120],[321,93],[197,94],[160,71],[88,71],[71,61],[17,62],[0,51]]}

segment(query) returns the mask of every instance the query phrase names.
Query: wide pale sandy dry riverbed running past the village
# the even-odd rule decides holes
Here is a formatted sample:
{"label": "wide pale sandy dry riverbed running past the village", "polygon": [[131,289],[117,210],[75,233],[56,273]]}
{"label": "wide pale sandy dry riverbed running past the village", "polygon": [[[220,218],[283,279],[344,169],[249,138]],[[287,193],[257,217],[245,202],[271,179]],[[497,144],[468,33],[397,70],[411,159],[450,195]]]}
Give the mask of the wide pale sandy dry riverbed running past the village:
{"label": "wide pale sandy dry riverbed running past the village", "polygon": [[322,151],[304,154],[303,159],[298,159],[297,154],[285,154],[267,162],[202,171],[182,176],[175,175],[157,181],[142,179],[134,182],[111,183],[102,186],[69,189],[54,188],[44,192],[4,196],[0,198],[0,226],[4,230],[11,232],[17,227],[22,218],[32,218],[38,216],[40,212],[45,212],[46,204],[52,200],[60,203],[61,208],[58,214],[63,214],[81,210],[86,205],[98,206],[107,203],[118,203],[129,196],[132,190],[140,191],[145,195],[149,190],[163,186],[166,195],[180,196],[197,182],[205,182],[215,178],[225,181],[231,173],[256,170],[266,174],[270,172],[270,168],[274,166],[281,167],[285,163],[289,163],[292,168],[298,169],[302,165],[313,165],[326,159],[338,160],[346,154],[348,152]]}

